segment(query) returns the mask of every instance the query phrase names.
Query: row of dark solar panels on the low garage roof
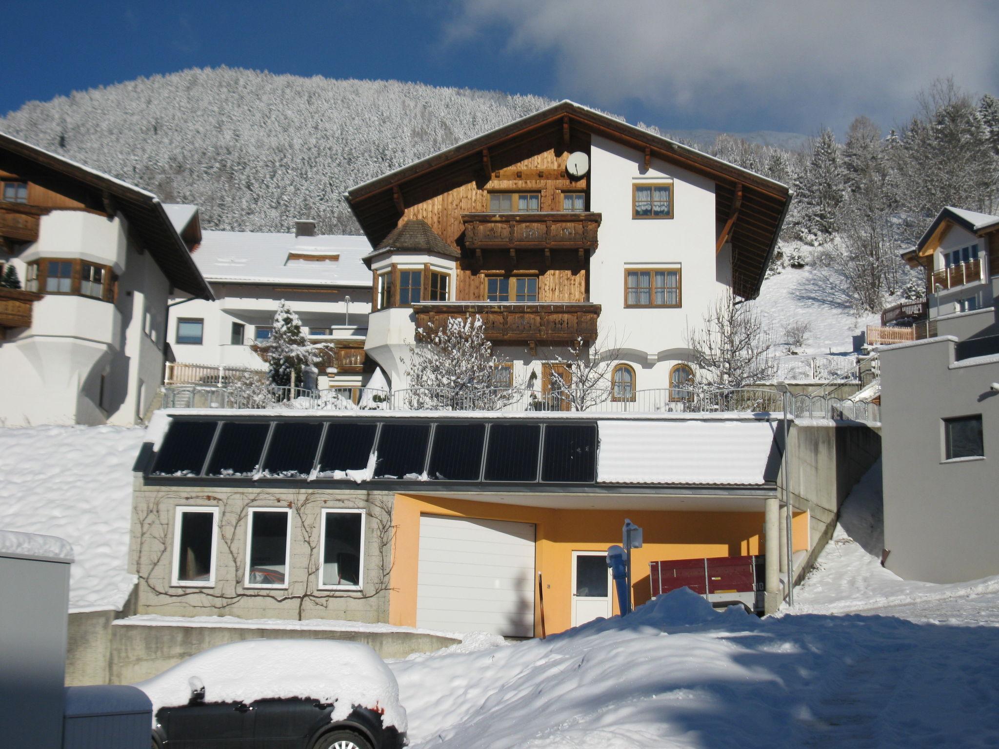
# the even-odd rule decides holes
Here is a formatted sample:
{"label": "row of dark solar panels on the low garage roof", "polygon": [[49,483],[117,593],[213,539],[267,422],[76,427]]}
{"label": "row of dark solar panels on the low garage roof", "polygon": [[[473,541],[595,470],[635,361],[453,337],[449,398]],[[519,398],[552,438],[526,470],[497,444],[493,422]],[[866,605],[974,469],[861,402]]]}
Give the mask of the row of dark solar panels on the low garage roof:
{"label": "row of dark solar panels on the low garage roof", "polygon": [[[592,483],[595,423],[175,418],[147,475]],[[362,478],[369,475],[364,473]]]}

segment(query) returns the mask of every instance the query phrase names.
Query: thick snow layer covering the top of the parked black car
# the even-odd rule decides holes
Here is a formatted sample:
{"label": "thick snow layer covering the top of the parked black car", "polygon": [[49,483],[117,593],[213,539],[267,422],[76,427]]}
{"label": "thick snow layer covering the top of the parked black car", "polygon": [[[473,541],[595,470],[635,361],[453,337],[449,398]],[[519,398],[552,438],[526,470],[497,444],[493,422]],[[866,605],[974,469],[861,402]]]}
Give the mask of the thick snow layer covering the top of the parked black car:
{"label": "thick snow layer covering the top of the parked black car", "polygon": [[396,677],[371,647],[333,640],[244,640],[210,648],[135,686],[156,712],[186,705],[191,679],[205,687],[206,702],[253,702],[303,697],[335,702],[332,720],[355,707],[384,711],[387,726],[406,731],[406,710]]}

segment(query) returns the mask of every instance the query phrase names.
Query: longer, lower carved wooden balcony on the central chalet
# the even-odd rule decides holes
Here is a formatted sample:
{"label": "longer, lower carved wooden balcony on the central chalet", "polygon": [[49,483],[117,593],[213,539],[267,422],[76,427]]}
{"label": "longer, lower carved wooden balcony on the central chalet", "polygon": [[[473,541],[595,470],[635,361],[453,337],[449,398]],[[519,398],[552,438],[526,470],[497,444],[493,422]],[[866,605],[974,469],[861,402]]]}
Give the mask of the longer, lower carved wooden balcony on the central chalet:
{"label": "longer, lower carved wooden balcony on the central chalet", "polygon": [[495,343],[571,343],[596,340],[600,306],[577,302],[495,303],[453,302],[414,305],[417,328],[440,328],[449,318],[478,315],[486,336]]}

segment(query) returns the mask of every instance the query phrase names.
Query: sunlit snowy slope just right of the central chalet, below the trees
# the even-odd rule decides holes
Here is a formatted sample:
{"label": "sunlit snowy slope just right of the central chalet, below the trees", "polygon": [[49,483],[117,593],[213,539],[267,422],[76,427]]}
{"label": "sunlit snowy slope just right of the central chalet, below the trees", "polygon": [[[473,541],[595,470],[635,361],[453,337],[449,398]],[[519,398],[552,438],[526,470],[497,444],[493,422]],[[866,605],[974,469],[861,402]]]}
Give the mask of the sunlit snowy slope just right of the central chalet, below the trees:
{"label": "sunlit snowy slope just right of the central chalet, below the trees", "polygon": [[785,325],[800,321],[811,327],[804,352],[849,353],[853,351],[853,336],[868,325],[877,325],[880,318],[854,314],[839,289],[840,282],[823,269],[812,265],[785,268],[763,282],[756,310],[772,327],[778,342]]}

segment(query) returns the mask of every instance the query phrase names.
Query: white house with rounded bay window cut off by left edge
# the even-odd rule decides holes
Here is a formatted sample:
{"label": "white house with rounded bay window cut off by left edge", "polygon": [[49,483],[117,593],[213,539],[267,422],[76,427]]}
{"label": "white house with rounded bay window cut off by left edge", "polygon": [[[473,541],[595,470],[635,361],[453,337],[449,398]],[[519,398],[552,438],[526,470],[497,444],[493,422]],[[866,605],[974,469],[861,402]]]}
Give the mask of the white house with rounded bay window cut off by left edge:
{"label": "white house with rounded bay window cut off by left edge", "polygon": [[152,193],[0,134],[0,423],[141,420],[167,300],[212,292]]}

